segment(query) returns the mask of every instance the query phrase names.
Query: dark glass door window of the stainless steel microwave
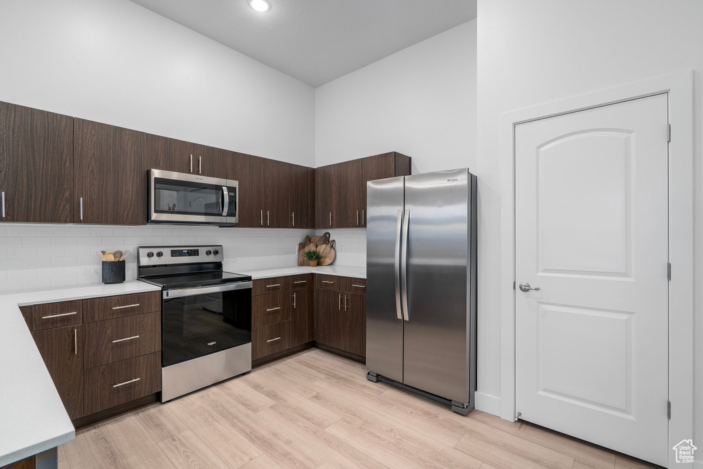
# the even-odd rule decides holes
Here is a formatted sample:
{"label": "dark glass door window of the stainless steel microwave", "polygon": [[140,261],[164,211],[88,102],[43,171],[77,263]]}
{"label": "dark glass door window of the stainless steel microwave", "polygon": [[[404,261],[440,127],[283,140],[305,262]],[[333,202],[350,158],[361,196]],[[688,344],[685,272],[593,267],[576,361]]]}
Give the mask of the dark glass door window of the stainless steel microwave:
{"label": "dark glass door window of the stainless steel microwave", "polygon": [[154,179],[155,213],[221,217],[224,210],[222,186],[174,179]]}

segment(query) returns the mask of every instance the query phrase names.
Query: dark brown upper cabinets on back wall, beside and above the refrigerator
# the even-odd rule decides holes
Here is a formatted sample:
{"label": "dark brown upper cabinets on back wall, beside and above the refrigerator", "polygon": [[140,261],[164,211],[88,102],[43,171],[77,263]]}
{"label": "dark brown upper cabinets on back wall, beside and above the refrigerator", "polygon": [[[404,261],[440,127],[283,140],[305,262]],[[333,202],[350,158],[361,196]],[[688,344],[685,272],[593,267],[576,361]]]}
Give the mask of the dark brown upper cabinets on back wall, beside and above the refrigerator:
{"label": "dark brown upper cabinets on back wall, beside and above the refrigerator", "polygon": [[318,167],[316,228],[366,227],[366,183],[409,174],[411,158],[396,152]]}

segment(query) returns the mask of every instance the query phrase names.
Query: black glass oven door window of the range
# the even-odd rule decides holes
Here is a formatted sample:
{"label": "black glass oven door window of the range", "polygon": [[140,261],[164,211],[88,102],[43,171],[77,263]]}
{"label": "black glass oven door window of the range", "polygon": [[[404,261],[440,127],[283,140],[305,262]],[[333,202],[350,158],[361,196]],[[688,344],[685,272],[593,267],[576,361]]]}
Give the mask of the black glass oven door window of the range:
{"label": "black glass oven door window of the range", "polygon": [[252,290],[163,300],[162,364],[169,366],[252,341]]}

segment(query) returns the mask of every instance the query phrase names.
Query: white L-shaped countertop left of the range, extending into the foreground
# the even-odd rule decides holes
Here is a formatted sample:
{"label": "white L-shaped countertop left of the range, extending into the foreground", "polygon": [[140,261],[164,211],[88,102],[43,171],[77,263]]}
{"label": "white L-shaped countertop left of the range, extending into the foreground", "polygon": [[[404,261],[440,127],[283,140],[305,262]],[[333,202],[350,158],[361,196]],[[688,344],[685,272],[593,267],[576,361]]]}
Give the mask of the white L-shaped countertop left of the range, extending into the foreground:
{"label": "white L-shaped countertop left of the range, extending into the foreground", "polygon": [[18,306],[160,290],[131,281],[0,295],[0,466],[75,438],[75,430]]}

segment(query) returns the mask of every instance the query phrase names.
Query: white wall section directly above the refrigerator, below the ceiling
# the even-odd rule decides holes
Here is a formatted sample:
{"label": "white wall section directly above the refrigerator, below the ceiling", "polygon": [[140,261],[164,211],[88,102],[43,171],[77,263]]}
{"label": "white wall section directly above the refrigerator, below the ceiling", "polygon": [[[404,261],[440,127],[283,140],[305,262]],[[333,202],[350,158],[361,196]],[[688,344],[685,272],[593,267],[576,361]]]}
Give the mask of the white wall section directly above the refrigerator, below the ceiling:
{"label": "white wall section directly above the refrigerator, below the ceiling", "polygon": [[476,20],[315,90],[317,166],[388,151],[413,172],[476,166]]}

